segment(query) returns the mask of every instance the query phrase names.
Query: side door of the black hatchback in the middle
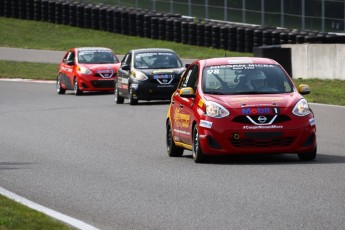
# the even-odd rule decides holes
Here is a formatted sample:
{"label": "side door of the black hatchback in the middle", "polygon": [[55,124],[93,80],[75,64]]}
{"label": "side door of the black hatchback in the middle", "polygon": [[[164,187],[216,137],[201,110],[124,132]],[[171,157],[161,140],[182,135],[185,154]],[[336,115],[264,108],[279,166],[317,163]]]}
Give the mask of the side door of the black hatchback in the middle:
{"label": "side door of the black hatchback in the middle", "polygon": [[117,75],[117,87],[119,94],[124,97],[128,97],[128,86],[130,84],[130,74],[131,74],[131,59],[132,53],[127,53],[122,61],[121,66]]}

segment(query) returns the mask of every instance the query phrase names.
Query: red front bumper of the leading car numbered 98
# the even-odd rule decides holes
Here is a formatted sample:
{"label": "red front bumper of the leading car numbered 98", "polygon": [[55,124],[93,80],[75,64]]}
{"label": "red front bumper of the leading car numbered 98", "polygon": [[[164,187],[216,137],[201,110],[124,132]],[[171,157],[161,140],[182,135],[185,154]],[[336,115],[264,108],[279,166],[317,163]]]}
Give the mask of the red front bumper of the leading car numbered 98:
{"label": "red front bumper of the leading car numbered 98", "polygon": [[316,148],[316,127],[309,119],[313,118],[261,128],[212,119],[212,128],[199,125],[200,146],[205,155],[312,152]]}

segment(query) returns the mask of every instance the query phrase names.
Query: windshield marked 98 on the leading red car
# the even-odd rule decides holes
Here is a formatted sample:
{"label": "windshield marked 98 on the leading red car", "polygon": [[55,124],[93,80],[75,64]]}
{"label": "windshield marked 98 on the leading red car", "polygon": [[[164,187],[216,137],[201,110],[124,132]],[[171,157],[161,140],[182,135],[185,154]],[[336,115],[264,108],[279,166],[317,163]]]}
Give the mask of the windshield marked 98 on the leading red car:
{"label": "windshield marked 98 on the leading red car", "polygon": [[293,92],[289,76],[272,64],[239,64],[208,66],[203,70],[204,93],[277,94]]}

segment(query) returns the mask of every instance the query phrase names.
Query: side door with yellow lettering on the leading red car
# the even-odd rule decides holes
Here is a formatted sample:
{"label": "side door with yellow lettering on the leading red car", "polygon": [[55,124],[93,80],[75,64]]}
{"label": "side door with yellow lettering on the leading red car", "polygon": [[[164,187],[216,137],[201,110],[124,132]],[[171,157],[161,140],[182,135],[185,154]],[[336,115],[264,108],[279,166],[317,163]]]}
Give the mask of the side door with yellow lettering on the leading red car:
{"label": "side door with yellow lettering on the leading red car", "polygon": [[[179,88],[191,87],[196,90],[198,80],[199,66],[197,64],[190,66],[182,76]],[[172,96],[171,115],[173,117],[173,132],[175,140],[185,144],[192,144],[192,125],[194,119],[193,105],[194,97],[183,97],[179,90]]]}

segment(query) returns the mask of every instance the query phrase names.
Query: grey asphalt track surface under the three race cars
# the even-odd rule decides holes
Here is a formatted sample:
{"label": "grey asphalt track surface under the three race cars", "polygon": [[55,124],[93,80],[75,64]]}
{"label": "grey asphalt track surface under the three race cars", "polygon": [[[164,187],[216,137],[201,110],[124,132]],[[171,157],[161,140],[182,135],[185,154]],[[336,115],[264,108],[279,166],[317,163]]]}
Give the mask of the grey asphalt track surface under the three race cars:
{"label": "grey asphalt track surface under the three race cars", "polygon": [[318,156],[169,158],[168,103],[0,81],[0,186],[99,229],[344,229],[345,107],[312,104]]}

